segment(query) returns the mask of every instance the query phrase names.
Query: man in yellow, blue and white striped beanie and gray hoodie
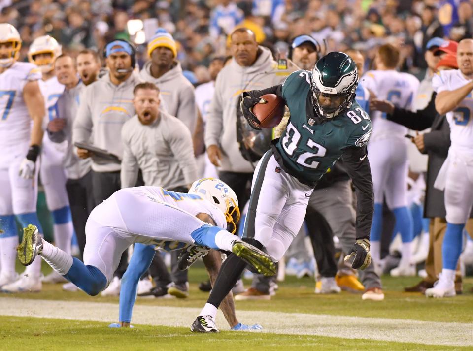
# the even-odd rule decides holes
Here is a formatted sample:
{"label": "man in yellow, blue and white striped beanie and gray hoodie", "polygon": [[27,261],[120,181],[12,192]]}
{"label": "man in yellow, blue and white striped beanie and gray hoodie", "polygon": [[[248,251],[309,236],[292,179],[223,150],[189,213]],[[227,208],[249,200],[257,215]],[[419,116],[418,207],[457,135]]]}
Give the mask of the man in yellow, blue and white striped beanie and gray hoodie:
{"label": "man in yellow, blue and white striped beanie and gray hoodie", "polygon": [[169,115],[181,120],[193,134],[197,124],[194,87],[176,61],[177,47],[171,34],[158,29],[148,42],[148,55],[151,61],[139,72],[141,80],[156,84]]}

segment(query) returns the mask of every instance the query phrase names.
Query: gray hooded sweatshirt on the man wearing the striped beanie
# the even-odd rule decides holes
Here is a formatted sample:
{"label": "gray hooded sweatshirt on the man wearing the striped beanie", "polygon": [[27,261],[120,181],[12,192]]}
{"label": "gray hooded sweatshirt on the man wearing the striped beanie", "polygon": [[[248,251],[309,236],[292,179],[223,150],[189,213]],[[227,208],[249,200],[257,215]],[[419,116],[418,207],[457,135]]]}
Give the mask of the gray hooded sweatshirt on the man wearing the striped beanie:
{"label": "gray hooded sweatshirt on the man wearing the striped beanie", "polygon": [[194,86],[182,74],[181,64],[175,62],[172,68],[159,78],[151,75],[151,61],[147,62],[139,72],[141,80],[158,86],[166,108],[171,116],[181,120],[194,134],[197,124],[197,105]]}

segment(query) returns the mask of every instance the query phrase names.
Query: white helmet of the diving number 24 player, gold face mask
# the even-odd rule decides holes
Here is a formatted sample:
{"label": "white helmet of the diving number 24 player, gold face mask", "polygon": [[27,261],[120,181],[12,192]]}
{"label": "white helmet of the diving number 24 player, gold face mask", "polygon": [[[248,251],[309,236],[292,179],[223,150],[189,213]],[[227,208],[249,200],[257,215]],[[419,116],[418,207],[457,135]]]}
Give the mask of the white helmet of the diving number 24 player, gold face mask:
{"label": "white helmet of the diving number 24 player, gold face mask", "polygon": [[236,193],[227,184],[215,178],[202,178],[192,183],[190,194],[201,195],[215,204],[223,212],[227,221],[227,230],[234,234],[236,223],[240,220],[240,210]]}

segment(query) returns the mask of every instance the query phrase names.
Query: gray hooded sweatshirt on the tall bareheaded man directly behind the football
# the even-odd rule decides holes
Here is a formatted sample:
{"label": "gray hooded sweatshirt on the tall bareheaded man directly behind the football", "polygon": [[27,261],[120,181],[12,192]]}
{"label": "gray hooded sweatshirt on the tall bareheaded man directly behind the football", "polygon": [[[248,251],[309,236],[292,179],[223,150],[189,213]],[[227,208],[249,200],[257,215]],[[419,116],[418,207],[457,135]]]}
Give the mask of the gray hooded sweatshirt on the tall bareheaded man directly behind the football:
{"label": "gray hooded sweatshirt on the tall bareheaded man directly behind the football", "polygon": [[220,170],[252,173],[250,162],[245,160],[236,141],[236,104],[241,93],[261,90],[280,84],[290,70],[278,69],[271,51],[260,46],[259,57],[251,66],[240,66],[232,59],[218,74],[215,92],[205,125],[205,146],[218,145],[222,149]]}

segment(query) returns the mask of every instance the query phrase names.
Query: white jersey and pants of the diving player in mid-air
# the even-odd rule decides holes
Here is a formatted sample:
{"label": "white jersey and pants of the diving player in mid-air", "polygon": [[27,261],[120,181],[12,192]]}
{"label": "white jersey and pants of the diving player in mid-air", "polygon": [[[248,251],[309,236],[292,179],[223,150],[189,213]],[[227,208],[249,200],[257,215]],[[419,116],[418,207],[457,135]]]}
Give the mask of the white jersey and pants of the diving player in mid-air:
{"label": "white jersey and pants of the diving player in mid-air", "polygon": [[204,224],[195,217],[199,213],[208,214],[218,227],[226,229],[222,211],[199,195],[160,187],[116,191],[87,220],[84,264],[99,268],[109,282],[122,253],[134,243],[157,245],[166,251],[191,244],[190,234]]}

